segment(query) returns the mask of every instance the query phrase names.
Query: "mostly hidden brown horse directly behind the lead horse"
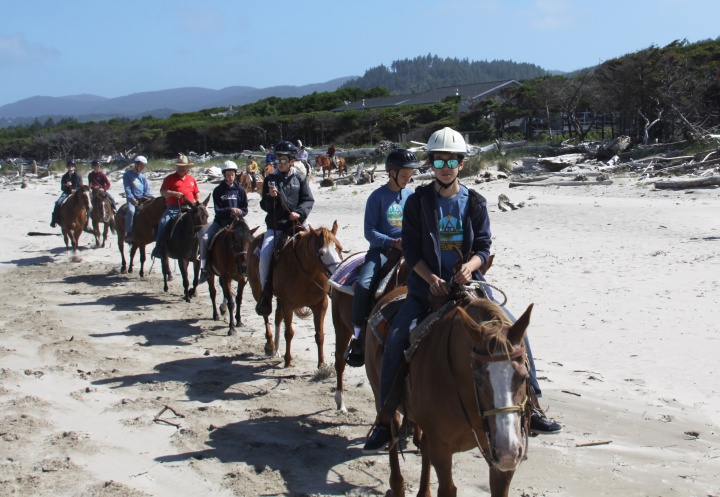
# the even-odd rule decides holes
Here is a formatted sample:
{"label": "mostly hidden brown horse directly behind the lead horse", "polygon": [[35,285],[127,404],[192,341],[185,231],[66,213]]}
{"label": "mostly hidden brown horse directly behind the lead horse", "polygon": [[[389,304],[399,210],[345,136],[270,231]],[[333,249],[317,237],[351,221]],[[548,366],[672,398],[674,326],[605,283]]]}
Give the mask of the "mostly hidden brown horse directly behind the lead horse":
{"label": "mostly hidden brown horse directly behind the lead horse", "polygon": [[[485,265],[480,268],[480,272],[482,274],[487,273],[490,266],[492,266],[494,259],[495,254],[488,257]],[[402,261],[396,268],[395,272],[389,275],[389,281],[379,298],[387,295],[395,288],[404,286],[409,275],[410,268],[404,261]],[[347,350],[348,345],[350,345],[350,339],[353,337],[354,333],[352,324],[353,296],[348,293],[336,291],[335,289],[333,289],[331,296],[332,304],[330,311],[333,318],[333,327],[335,328],[335,404],[338,410],[347,412],[345,400],[343,398],[343,375],[345,373],[345,365],[347,364],[347,361],[345,360],[345,351]],[[370,303],[371,307],[373,303],[374,300]]]}

